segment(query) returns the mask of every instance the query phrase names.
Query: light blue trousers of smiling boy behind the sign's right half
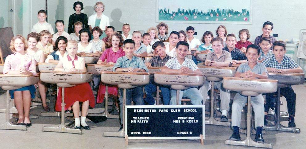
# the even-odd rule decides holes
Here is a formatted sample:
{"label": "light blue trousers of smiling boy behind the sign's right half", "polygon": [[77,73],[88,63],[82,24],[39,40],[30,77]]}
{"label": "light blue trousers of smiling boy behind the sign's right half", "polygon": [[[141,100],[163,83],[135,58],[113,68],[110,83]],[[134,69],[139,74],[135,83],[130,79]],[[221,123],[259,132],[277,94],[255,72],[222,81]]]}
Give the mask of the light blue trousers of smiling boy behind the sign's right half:
{"label": "light blue trousers of smiling boy behind the sign's right half", "polygon": [[[170,93],[171,93],[170,105],[176,105],[176,90],[171,89]],[[202,94],[196,88],[187,88],[185,90],[180,90],[179,99],[181,100],[183,96],[189,98],[193,105],[202,105],[202,101],[204,100]],[[205,103],[205,101],[203,101],[203,103]]]}

